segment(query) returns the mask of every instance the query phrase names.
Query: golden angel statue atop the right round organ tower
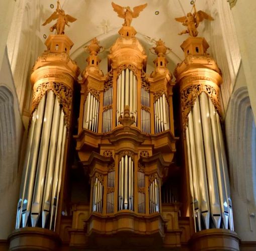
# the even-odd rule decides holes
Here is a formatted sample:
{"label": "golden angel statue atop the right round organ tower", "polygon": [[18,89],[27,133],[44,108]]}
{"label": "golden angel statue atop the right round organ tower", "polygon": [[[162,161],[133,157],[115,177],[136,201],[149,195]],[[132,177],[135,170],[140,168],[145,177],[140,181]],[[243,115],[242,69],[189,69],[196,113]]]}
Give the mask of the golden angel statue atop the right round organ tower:
{"label": "golden angel statue atop the right round organ tower", "polygon": [[187,17],[176,18],[175,20],[181,22],[184,26],[187,26],[187,30],[182,31],[179,35],[189,33],[191,37],[196,37],[198,35],[197,27],[199,23],[202,22],[204,19],[209,21],[213,21],[214,19],[203,11],[196,11],[195,4],[193,5],[194,13],[188,13]]}

